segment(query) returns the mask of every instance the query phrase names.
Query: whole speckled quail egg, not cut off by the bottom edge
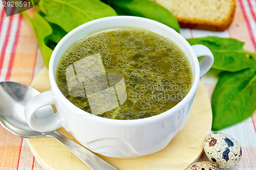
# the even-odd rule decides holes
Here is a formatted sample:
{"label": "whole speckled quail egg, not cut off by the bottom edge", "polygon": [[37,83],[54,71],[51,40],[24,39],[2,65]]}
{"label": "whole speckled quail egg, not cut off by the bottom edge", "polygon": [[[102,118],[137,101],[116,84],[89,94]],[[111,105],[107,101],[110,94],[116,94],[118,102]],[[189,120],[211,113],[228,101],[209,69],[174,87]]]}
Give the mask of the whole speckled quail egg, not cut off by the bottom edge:
{"label": "whole speckled quail egg, not cut off by the bottom edge", "polygon": [[211,133],[204,139],[208,159],[221,168],[235,166],[241,159],[242,149],[237,140],[223,133]]}

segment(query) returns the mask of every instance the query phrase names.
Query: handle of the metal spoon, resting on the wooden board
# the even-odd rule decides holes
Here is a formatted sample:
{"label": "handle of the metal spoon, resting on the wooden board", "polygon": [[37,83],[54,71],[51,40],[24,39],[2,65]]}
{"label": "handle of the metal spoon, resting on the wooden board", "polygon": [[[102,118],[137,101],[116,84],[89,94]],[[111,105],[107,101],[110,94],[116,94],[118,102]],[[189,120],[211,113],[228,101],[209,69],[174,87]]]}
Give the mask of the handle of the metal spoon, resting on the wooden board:
{"label": "handle of the metal spoon, resting on the wooden board", "polygon": [[80,144],[74,142],[70,138],[58,133],[57,131],[51,131],[46,133],[47,136],[52,136],[67,147],[73,154],[75,154],[81,161],[86,163],[93,170],[102,169],[116,169],[117,167],[106,162],[99,156],[95,155],[88,149],[82,147]]}

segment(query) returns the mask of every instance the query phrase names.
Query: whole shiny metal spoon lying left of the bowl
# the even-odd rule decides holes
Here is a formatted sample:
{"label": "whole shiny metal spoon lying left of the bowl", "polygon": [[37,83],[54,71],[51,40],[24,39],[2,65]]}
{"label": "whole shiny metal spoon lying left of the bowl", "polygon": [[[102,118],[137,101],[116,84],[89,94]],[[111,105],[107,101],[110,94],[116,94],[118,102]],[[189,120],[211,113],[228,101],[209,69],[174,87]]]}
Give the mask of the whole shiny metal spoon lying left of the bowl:
{"label": "whole shiny metal spoon lying left of the bowl", "polygon": [[[14,135],[24,138],[52,136],[65,145],[91,169],[118,169],[57,131],[37,132],[32,130],[26,122],[24,110],[27,102],[37,94],[39,92],[36,89],[25,84],[0,82],[0,124]],[[38,112],[43,112],[44,114],[38,114]],[[44,116],[39,117],[37,114]],[[35,113],[35,118],[43,119],[52,114],[54,114],[52,107],[46,106]]]}

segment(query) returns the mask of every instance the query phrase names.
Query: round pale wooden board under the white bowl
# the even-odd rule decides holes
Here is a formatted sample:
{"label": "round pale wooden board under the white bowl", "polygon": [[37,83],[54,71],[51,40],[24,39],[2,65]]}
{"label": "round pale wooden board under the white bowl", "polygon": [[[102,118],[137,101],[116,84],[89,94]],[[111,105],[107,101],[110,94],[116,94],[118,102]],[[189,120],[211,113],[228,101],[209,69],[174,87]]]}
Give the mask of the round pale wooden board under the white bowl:
{"label": "round pale wooden board under the white bowl", "polygon": [[[46,68],[39,72],[31,86],[40,92],[50,89]],[[211,120],[209,97],[200,82],[186,126],[167,147],[154,154],[132,159],[99,156],[119,169],[185,169],[203,153],[203,139],[210,132]],[[75,140],[65,129],[58,131]],[[32,138],[27,139],[27,142],[36,160],[45,169],[90,169],[52,137]]]}

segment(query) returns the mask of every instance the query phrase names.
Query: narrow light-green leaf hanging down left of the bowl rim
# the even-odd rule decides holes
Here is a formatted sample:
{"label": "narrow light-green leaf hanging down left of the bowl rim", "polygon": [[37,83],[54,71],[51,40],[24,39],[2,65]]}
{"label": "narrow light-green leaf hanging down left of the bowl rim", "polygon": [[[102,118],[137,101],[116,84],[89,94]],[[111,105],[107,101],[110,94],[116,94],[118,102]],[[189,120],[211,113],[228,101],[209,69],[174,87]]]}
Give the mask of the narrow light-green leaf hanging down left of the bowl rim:
{"label": "narrow light-green leaf hanging down left of the bowl rim", "polygon": [[34,31],[42,59],[44,60],[45,65],[48,67],[53,51],[46,44],[49,40],[49,35],[52,34],[52,28],[50,24],[38,13],[34,13],[34,18],[30,18],[26,12],[23,12],[23,14],[29,21]]}

